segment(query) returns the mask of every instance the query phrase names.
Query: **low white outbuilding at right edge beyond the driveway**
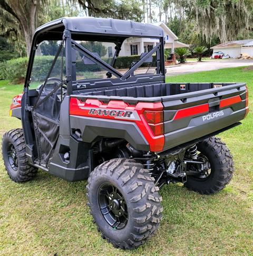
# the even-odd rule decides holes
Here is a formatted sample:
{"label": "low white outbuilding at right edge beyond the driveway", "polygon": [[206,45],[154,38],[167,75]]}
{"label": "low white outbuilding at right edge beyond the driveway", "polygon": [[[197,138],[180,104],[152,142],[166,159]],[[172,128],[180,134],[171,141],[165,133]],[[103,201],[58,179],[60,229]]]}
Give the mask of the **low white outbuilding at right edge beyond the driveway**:
{"label": "low white outbuilding at right edge beyond the driveway", "polygon": [[229,41],[211,47],[213,52],[222,51],[231,58],[240,57],[241,54],[247,54],[253,57],[253,39]]}

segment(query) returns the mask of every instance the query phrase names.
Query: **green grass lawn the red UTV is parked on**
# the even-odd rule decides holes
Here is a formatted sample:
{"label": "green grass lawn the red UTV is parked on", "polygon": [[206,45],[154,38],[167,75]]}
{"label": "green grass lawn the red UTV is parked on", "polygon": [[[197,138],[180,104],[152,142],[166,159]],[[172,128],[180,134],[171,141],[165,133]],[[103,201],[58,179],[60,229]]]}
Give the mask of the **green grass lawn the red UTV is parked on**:
{"label": "green grass lawn the red UTV is parked on", "polygon": [[[220,69],[169,77],[168,81],[246,81],[250,113],[243,124],[220,136],[235,159],[236,173],[216,195],[203,196],[179,184],[161,190],[163,221],[156,235],[132,251],[114,249],[92,224],[86,206],[86,181],[70,183],[39,171],[15,184],[0,161],[1,255],[252,255],[253,254],[253,71]],[[22,85],[0,81],[0,136],[21,127],[8,116]]]}

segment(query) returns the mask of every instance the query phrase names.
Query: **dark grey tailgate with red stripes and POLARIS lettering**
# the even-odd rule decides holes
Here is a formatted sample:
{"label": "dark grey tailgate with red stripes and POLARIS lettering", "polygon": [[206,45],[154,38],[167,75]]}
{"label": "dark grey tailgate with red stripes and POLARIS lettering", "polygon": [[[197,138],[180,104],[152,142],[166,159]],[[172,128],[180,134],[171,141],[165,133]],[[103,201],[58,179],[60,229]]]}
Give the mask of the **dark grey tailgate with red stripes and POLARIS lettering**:
{"label": "dark grey tailgate with red stripes and POLARIS lettering", "polygon": [[[217,84],[219,86],[222,84]],[[235,124],[248,113],[247,86],[227,85],[163,97],[164,148],[198,139]]]}

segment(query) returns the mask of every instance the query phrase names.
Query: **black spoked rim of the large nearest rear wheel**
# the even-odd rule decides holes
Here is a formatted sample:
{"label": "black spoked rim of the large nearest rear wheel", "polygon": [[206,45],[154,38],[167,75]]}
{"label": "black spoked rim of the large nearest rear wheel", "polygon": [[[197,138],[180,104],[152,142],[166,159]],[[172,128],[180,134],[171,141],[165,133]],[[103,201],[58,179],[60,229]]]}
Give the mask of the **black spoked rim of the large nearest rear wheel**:
{"label": "black spoked rim of the large nearest rear wheel", "polygon": [[102,184],[98,200],[104,220],[114,230],[122,230],[128,223],[128,207],[119,189],[110,183]]}

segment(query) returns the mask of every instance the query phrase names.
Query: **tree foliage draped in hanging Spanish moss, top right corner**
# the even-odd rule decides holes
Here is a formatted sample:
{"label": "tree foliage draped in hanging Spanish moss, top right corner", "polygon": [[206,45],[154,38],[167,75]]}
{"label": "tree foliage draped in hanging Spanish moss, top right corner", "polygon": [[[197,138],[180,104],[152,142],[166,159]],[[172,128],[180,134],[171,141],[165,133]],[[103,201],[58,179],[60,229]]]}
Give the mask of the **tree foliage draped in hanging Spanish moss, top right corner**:
{"label": "tree foliage draped in hanging Spanish moss, top right corner", "polygon": [[187,0],[190,15],[196,19],[198,32],[210,41],[221,42],[247,38],[253,29],[253,0]]}

